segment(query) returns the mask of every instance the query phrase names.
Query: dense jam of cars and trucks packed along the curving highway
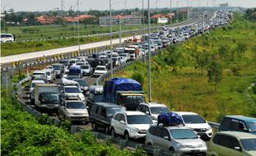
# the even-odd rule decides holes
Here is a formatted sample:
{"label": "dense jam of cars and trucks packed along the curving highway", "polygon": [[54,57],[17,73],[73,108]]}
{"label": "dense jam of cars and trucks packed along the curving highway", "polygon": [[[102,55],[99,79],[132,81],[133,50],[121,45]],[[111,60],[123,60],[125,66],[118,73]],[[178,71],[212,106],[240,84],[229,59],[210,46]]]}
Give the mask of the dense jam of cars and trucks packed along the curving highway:
{"label": "dense jam of cars and trucks packed along the curving highway", "polygon": [[[233,130],[241,129],[247,137],[255,139],[251,133],[255,134],[256,119],[247,117],[253,121],[249,125],[246,117],[244,122],[237,117],[225,117],[221,131],[213,135],[211,126],[196,112],[172,112],[164,103],[147,103],[142,85],[136,80],[115,77],[104,85],[88,85],[85,77],[97,78],[106,74],[111,64],[115,68],[133,62],[148,55],[149,48],[154,55],[169,45],[185,42],[218,26],[227,25],[231,19],[230,11],[217,11],[211,21],[176,29],[163,26],[126,47],[113,49],[112,53],[107,50],[88,57],[63,59],[42,70],[33,71],[30,102],[39,112],[55,113],[63,121],[89,124],[93,131],[114,137],[142,139],[145,145],[157,146],[172,153],[218,155],[220,140],[224,137],[235,138],[235,133],[225,133],[229,125],[238,121],[237,129],[233,126]],[[209,145],[206,145],[205,141],[209,140]],[[234,143],[236,151],[246,151],[244,145],[248,145],[248,148],[256,146],[255,141],[254,147],[246,141],[233,141],[237,141]]]}

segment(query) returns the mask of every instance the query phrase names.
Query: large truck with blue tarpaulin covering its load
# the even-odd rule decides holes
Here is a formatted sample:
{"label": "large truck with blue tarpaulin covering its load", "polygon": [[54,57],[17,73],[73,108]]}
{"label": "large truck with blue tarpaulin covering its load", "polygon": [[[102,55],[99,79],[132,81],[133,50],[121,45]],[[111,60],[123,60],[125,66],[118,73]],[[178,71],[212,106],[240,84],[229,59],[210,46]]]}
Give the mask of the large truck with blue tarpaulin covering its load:
{"label": "large truck with blue tarpaulin covering its load", "polygon": [[116,77],[107,80],[103,87],[103,101],[135,111],[140,103],[145,103],[145,93],[136,80]]}

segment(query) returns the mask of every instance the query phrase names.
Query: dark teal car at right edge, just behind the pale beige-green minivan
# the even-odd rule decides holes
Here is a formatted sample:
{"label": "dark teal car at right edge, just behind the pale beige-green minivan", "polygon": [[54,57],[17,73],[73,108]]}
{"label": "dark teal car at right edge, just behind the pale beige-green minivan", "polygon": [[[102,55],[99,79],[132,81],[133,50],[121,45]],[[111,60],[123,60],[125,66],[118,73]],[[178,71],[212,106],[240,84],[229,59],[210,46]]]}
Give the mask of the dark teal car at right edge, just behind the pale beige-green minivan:
{"label": "dark teal car at right edge, just behind the pale beige-green minivan", "polygon": [[239,115],[225,116],[220,122],[219,131],[244,131],[256,135],[256,118]]}

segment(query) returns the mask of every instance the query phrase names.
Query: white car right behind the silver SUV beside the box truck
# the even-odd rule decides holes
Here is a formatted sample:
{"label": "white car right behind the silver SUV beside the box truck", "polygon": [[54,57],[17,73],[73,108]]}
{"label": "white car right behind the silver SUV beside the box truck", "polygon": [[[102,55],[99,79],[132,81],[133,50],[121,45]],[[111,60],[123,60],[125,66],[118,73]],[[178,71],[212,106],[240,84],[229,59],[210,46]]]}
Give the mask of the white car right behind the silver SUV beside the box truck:
{"label": "white car right behind the silver SUV beside the box truck", "polygon": [[59,87],[59,95],[62,99],[67,97],[79,97],[83,102],[85,102],[85,97],[82,90],[78,88],[77,85],[63,85]]}

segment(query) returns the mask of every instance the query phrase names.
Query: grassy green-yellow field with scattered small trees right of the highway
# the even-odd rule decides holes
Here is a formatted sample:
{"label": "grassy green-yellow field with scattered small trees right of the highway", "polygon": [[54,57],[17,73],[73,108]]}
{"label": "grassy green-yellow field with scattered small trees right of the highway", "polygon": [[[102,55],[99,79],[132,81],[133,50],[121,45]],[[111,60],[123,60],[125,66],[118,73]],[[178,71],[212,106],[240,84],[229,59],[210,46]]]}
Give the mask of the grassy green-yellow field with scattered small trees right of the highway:
{"label": "grassy green-yellow field with scattered small trees right of the highway", "polygon": [[[225,27],[159,52],[152,63],[153,101],[197,112],[212,122],[224,115],[256,117],[256,23],[235,14]],[[148,95],[148,64],[116,76],[139,80]]]}

